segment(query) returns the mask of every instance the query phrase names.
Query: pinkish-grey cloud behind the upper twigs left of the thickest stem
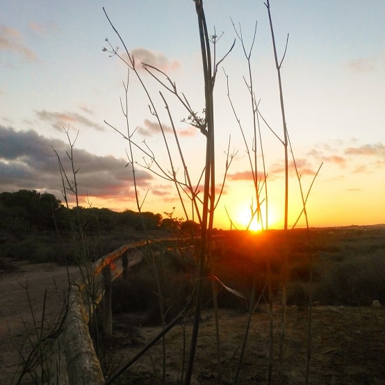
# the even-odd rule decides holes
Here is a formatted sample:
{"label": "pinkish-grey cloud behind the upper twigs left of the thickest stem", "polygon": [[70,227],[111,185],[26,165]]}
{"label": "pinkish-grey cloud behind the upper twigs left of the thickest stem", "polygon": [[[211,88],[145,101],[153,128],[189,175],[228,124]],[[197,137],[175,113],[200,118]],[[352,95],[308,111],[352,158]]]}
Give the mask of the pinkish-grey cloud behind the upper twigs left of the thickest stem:
{"label": "pinkish-grey cloud behind the upper twigs left of the thickest stem", "polygon": [[[124,57],[125,55],[123,55]],[[131,51],[131,57],[135,61],[138,71],[143,71],[142,64],[153,65],[163,72],[177,71],[181,65],[177,60],[169,60],[165,54],[146,48],[135,48]]]}

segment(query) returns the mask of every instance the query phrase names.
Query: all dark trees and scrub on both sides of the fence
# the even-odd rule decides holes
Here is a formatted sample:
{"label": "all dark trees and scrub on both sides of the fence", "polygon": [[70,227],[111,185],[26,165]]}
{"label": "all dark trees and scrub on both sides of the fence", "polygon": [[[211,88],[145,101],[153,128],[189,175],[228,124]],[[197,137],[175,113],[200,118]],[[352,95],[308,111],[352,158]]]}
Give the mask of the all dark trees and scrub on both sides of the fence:
{"label": "all dark trees and scrub on both sides of the fence", "polygon": [[[1,193],[0,269],[13,270],[13,265],[3,257],[76,263],[76,239],[71,228],[76,210],[83,218],[91,259],[98,259],[142,236],[140,216],[134,211],[117,213],[108,208],[67,208],[54,195],[35,190]],[[167,213],[166,218],[158,213],[142,215],[153,238],[188,236],[191,232],[199,235],[199,224],[195,222],[172,218]],[[254,271],[258,281],[256,296],[263,292],[266,262],[270,259],[272,287],[275,295],[279,295],[283,279],[283,232],[273,230],[254,236],[247,231],[221,231],[220,234],[223,238],[213,249],[216,275],[249,300]],[[385,303],[385,227],[310,229],[311,245],[305,229],[295,229],[289,234],[288,304],[309,302],[309,253],[313,255],[313,301],[350,306],[368,305],[372,300]],[[174,259],[158,261],[165,279],[163,290],[170,287],[170,281],[177,281],[179,288],[187,290],[191,282],[186,281],[186,277],[195,275],[196,266],[190,264],[190,272],[186,275],[186,265],[182,261],[172,261]],[[157,301],[156,295],[151,294],[156,292],[152,288],[151,271],[140,267],[134,270],[140,272],[131,277],[129,284],[117,281],[115,290],[126,292],[123,297],[127,298],[131,297],[131,290],[138,290],[146,296],[140,299],[140,304],[154,315]],[[208,301],[209,287],[205,291]],[[184,304],[185,297],[181,298],[180,294],[179,290],[167,294],[170,313],[176,313]],[[226,290],[221,291],[218,301],[222,307],[245,309],[245,302]],[[125,307],[117,304],[120,306]]]}

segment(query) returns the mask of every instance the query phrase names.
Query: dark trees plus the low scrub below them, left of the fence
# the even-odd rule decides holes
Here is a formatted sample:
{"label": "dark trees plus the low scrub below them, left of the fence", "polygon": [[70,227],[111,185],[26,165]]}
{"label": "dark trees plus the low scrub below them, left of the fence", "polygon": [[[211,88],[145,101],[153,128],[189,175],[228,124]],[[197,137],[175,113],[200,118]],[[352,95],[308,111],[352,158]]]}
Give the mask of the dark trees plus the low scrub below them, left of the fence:
{"label": "dark trees plus the low scrub below them, left of the fence", "polygon": [[[165,213],[131,210],[121,213],[108,208],[67,208],[49,193],[19,190],[0,193],[0,268],[3,257],[29,259],[36,262],[74,263],[76,239],[74,231],[81,217],[82,231],[87,237],[90,258],[97,259],[139,236],[142,221],[147,231],[174,234],[175,231],[199,234],[199,224],[172,218]],[[11,268],[8,266],[9,269]]]}

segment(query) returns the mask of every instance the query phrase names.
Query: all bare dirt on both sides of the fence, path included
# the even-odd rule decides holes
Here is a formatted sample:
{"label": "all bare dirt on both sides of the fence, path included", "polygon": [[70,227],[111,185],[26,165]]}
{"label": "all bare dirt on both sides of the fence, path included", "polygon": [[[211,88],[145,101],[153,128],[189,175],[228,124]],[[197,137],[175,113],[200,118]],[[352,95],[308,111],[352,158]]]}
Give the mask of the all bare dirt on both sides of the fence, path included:
{"label": "all bare dirt on both sides of the fence, path included", "polygon": [[[42,298],[47,288],[47,318],[61,309],[60,299],[67,285],[65,268],[52,263],[19,263],[17,272],[0,272],[0,384],[11,384],[19,368],[17,347],[26,345],[26,329],[33,326],[28,309],[26,290],[36,315],[41,315]],[[76,268],[69,270],[76,276]],[[38,316],[39,318],[40,316]],[[281,311],[275,307],[275,344],[273,379],[277,376],[278,343]],[[243,341],[247,315],[235,311],[220,311],[222,336],[221,376],[223,384],[231,384],[236,373],[240,346]],[[109,359],[112,371],[131,358],[151,337],[156,327],[144,327],[138,314],[114,315],[114,351]],[[264,306],[254,313],[245,358],[238,384],[267,384],[268,382],[268,322]],[[291,306],[287,312],[284,359],[281,384],[304,384],[306,372],[307,329],[309,312]],[[385,384],[385,310],[367,307],[316,306],[313,308],[311,333],[310,384]],[[191,322],[184,329],[177,325],[166,336],[167,383],[175,383],[183,370],[183,331],[186,350]],[[213,313],[202,314],[194,367],[193,384],[217,384],[218,366]],[[156,384],[161,373],[161,343],[139,359],[130,372],[117,384]],[[145,380],[139,379],[145,378]],[[27,383],[27,382],[26,382]]]}

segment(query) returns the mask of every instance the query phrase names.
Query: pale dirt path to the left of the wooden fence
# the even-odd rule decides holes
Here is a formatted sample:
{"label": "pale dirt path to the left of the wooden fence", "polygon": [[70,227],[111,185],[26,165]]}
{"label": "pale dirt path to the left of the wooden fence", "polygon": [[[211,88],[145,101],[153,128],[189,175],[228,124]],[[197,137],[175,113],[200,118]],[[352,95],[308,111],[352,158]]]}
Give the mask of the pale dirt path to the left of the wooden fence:
{"label": "pale dirt path to the left of the wooden fence", "polygon": [[[49,325],[60,314],[63,292],[68,284],[67,269],[63,266],[28,261],[17,261],[16,264],[19,270],[0,272],[0,384],[12,383],[19,366],[17,350],[24,347],[27,351],[26,336],[33,335],[33,316],[26,289],[38,322],[42,317],[44,291],[47,289],[45,319]],[[74,279],[77,271],[70,266],[69,279]]]}

